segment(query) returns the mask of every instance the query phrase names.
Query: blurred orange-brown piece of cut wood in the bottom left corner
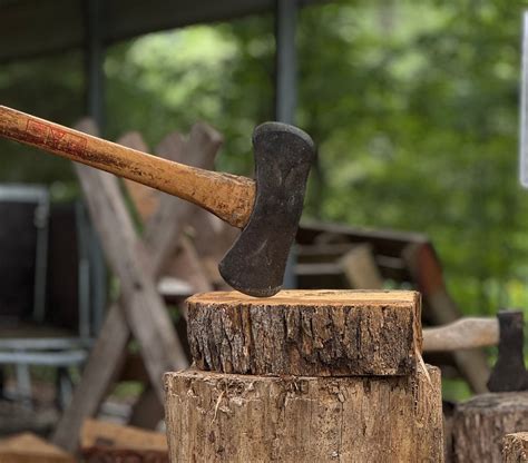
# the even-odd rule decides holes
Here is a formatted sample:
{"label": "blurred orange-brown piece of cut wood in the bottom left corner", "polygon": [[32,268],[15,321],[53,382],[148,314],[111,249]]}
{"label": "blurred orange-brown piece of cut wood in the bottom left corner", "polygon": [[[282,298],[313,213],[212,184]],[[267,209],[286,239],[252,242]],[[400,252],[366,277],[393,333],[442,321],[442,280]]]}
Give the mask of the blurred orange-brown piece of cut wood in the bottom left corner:
{"label": "blurred orange-brown piece of cut wood in the bottom left corner", "polygon": [[31,433],[0,440],[1,463],[75,463],[74,455]]}

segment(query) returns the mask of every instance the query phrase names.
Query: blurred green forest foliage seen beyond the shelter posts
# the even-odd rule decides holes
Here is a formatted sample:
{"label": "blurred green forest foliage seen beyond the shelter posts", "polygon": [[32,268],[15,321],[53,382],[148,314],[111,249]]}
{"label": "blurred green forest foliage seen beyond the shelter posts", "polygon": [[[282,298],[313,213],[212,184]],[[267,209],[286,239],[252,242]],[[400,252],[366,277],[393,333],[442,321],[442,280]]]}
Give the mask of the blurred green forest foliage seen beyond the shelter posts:
{"label": "blurred green forest foliage seen beyond the shelter posts", "polygon": [[[53,2],[2,0],[0,16],[17,3],[23,14]],[[155,146],[206,121],[224,138],[216,169],[252,176],[252,130],[276,117],[276,11],[231,12],[231,3],[225,14],[204,8],[189,20],[197,23],[177,29],[134,29],[136,17],[128,38],[102,41],[104,138],[138,130]],[[460,315],[528,307],[528,193],[518,183],[522,8],[336,0],[300,2],[295,13],[291,118],[319,147],[303,219],[427,235]],[[60,21],[67,11],[55,10],[46,33],[28,29],[41,47],[0,42],[0,102],[72,126],[88,112],[89,57],[79,40],[46,46],[76,27]],[[119,14],[127,19],[114,9],[99,27]],[[70,162],[7,140],[0,152],[0,183],[48,186],[51,204],[80,197]],[[452,398],[471,393],[456,382],[444,387]]]}

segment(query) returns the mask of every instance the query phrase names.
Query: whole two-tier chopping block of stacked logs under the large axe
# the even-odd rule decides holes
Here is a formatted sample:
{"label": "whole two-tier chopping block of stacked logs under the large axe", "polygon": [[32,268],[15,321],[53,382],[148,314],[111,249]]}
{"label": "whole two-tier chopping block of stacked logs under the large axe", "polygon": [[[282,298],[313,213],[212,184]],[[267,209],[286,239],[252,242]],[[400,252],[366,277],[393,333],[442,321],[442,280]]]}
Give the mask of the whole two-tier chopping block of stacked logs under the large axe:
{"label": "whole two-tier chopping block of stacked logs under the large axe", "polygon": [[165,375],[172,462],[443,461],[418,293],[204,293],[187,307],[194,364]]}

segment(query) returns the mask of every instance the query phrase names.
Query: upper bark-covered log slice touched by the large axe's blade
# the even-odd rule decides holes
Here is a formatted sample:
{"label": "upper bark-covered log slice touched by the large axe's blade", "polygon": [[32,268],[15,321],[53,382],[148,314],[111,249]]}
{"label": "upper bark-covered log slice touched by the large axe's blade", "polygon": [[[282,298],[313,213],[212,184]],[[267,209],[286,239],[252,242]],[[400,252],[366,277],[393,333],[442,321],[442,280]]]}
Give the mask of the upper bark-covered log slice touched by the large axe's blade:
{"label": "upper bark-covered log slice touched by the large axe's blade", "polygon": [[412,374],[421,351],[414,292],[283,290],[190,297],[188,338],[199,370],[305,376]]}

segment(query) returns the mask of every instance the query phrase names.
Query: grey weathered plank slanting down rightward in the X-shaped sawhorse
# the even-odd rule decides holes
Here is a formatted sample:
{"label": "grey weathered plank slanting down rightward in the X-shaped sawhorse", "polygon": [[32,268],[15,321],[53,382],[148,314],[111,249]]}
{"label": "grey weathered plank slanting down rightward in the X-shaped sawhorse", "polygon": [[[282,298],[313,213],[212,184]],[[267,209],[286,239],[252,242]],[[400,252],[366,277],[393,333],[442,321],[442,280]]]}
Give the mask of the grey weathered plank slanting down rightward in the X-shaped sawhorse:
{"label": "grey weathered plank slanting down rightward in the X-shaped sawhorse", "polygon": [[184,368],[187,359],[156,290],[147,249],[136,236],[117,178],[82,165],[75,168],[108,264],[119,277],[125,317],[139,341],[153,384],[160,385],[167,368]]}

